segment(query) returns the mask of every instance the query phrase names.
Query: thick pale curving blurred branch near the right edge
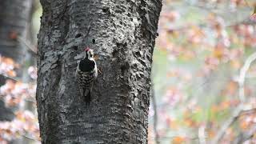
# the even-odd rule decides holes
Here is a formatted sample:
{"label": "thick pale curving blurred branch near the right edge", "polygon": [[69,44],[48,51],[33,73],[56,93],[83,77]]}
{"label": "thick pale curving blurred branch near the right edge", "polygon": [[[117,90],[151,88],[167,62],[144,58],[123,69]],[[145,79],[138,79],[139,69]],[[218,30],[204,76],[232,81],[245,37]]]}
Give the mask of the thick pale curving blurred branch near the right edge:
{"label": "thick pale curving blurred branch near the right edge", "polygon": [[213,140],[213,144],[218,143],[224,134],[226,133],[226,130],[238,119],[239,115],[242,113],[244,104],[245,104],[245,91],[244,91],[244,84],[246,79],[246,72],[249,70],[250,65],[254,60],[256,59],[256,52],[253,54],[250,54],[248,58],[246,58],[245,64],[242,66],[242,69],[240,70],[239,78],[238,78],[238,85],[239,85],[239,99],[240,99],[240,105],[238,108],[236,108],[231,116],[224,124],[222,125],[221,129],[218,131],[218,134]]}

